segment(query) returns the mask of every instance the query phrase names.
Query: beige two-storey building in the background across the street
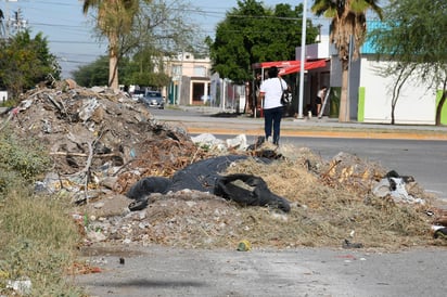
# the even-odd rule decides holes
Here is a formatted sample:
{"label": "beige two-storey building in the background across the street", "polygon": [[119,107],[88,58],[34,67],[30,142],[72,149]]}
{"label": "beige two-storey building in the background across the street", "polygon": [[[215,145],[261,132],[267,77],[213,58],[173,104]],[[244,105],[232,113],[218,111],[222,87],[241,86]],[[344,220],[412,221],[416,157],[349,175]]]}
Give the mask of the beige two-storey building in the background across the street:
{"label": "beige two-storey building in the background across the street", "polygon": [[167,61],[166,72],[171,77],[166,95],[169,104],[201,105],[207,101],[210,86],[212,62],[195,59],[183,52]]}

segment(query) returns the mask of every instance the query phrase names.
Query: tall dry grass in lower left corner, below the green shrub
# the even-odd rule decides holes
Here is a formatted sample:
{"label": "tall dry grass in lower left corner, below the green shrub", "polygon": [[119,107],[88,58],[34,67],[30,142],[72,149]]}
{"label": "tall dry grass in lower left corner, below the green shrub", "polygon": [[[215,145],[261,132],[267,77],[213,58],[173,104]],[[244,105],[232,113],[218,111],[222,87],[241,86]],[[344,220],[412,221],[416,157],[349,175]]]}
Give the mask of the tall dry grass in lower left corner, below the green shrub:
{"label": "tall dry grass in lower left corner, below the green shrub", "polygon": [[9,280],[29,280],[33,296],[80,296],[64,275],[79,241],[67,205],[17,191],[0,206],[0,294],[12,294]]}

